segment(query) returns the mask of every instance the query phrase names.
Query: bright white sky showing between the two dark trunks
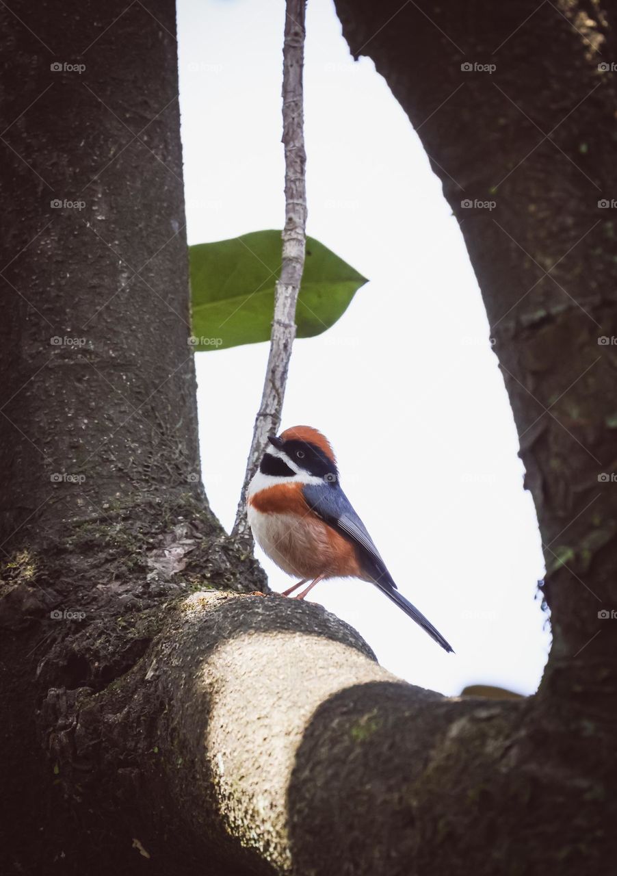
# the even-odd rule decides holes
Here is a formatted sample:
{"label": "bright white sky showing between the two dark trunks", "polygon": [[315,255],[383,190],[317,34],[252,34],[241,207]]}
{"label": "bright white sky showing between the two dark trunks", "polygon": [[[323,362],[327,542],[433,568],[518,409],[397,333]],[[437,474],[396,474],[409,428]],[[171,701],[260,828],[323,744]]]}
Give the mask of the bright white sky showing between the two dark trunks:
{"label": "bright white sky showing between the two dark trunks", "polygon": [[[281,228],[284,3],[179,0],[178,17],[189,244]],[[309,0],[306,34],[307,230],[370,282],[332,329],[295,342],[283,427],[327,435],[400,590],[456,653],[368,583],[321,583],[310,598],[410,682],[530,694],[549,646],[540,537],[458,224],[331,0]],[[228,530],[267,357],[265,343],[196,356],[204,483]],[[257,555],[274,590],[290,585]]]}

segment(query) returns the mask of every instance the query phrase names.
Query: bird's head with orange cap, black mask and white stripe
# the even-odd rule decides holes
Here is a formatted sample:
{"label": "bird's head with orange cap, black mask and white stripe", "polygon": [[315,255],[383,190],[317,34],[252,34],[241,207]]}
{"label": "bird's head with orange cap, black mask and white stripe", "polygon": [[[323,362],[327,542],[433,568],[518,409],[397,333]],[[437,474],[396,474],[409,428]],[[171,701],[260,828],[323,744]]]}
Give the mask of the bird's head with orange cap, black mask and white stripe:
{"label": "bird's head with orange cap, black mask and white stripe", "polygon": [[269,435],[259,470],[277,477],[320,477],[336,483],[339,471],[333,449],[325,435],[310,426],[293,426],[280,435]]}

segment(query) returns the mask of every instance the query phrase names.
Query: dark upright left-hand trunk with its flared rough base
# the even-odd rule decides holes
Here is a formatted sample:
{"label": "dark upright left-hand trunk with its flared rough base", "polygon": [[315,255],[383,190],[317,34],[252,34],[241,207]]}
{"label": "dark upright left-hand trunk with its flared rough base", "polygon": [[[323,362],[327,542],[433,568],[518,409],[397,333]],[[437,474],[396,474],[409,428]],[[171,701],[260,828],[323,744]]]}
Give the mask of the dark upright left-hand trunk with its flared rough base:
{"label": "dark upright left-hand trunk with its flared rough base", "polygon": [[65,801],[43,704],[124,675],[174,595],[267,585],[200,485],[174,4],[10,6],[0,872],[127,872],[139,855],[113,843],[110,802]]}

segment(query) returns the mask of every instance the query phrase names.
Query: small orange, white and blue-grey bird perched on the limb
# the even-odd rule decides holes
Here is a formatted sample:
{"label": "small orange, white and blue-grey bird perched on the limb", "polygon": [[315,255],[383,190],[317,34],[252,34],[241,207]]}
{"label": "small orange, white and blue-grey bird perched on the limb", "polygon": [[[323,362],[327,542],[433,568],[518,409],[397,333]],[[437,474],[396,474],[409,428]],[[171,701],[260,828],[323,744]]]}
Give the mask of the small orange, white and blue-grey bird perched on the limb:
{"label": "small orange, white and blue-grey bird perched on the limb", "polygon": [[310,426],[294,426],[269,435],[268,441],[271,446],[249,485],[247,511],[263,551],[288,575],[302,579],[283,596],[309,581],[296,599],[304,599],[326,578],[361,578],[451,652],[441,633],[396,589],[366,526],[340,488],[326,436]]}

